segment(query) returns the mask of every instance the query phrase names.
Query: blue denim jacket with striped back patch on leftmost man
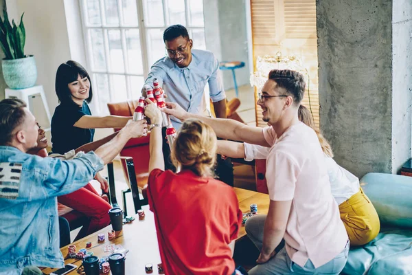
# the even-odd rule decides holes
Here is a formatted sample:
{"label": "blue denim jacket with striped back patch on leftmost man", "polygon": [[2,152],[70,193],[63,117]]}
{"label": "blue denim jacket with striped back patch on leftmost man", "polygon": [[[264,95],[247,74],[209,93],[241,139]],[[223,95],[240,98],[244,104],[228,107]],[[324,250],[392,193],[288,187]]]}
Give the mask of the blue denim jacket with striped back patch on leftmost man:
{"label": "blue denim jacket with striped back patch on leftmost man", "polygon": [[89,152],[63,161],[0,146],[0,164],[10,163],[21,165],[21,174],[19,185],[13,186],[16,199],[4,198],[1,187],[10,182],[0,177],[0,271],[16,272],[28,265],[63,267],[56,197],[87,184],[102,170],[102,159]]}

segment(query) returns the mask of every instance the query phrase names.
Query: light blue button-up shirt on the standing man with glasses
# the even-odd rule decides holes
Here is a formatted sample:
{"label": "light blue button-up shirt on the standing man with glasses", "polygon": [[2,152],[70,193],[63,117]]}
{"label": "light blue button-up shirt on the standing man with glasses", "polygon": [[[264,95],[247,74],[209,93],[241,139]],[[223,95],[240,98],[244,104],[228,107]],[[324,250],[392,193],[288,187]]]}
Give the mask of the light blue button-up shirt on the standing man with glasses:
{"label": "light blue button-up shirt on the standing man with glasses", "polygon": [[[145,85],[153,87],[153,79],[168,94],[167,101],[176,102],[189,113],[209,115],[205,98],[205,86],[209,84],[212,102],[226,98],[223,89],[219,61],[212,52],[192,50],[192,62],[185,68],[178,67],[168,56],[161,58],[150,69]],[[180,129],[182,122],[170,116],[174,128]]]}

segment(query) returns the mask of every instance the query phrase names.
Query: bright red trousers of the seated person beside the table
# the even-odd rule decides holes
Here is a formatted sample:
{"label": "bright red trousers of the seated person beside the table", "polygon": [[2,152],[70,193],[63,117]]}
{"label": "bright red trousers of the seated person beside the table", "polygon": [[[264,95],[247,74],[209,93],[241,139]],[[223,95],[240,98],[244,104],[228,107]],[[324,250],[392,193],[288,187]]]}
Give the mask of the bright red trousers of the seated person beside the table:
{"label": "bright red trousers of the seated person beside the table", "polygon": [[100,197],[91,184],[87,184],[70,194],[62,195],[58,197],[57,200],[59,203],[69,206],[69,208],[84,214],[90,219],[89,225],[82,227],[75,241],[105,228],[110,224],[108,210],[112,207],[107,201]]}

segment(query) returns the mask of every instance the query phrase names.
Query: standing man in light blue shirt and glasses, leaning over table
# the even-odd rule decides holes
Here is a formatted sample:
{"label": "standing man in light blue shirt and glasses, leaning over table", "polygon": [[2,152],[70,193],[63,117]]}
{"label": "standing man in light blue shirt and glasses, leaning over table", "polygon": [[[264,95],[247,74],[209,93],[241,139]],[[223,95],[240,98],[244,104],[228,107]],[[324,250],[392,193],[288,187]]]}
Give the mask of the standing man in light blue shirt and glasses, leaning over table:
{"label": "standing man in light blue shirt and glasses, leaning over table", "polygon": [[[171,25],[163,32],[168,56],[165,56],[150,68],[145,85],[153,87],[157,78],[159,85],[168,95],[167,100],[179,104],[189,113],[210,116],[209,99],[205,87],[209,84],[209,96],[214,104],[217,118],[226,118],[226,94],[223,89],[218,59],[212,52],[192,50],[193,41],[183,25]],[[145,91],[144,91],[145,92]],[[179,130],[182,122],[170,117],[174,129]],[[165,129],[163,129],[165,136]],[[169,161],[170,149],[163,139],[165,168],[174,170]],[[233,186],[233,165],[230,159],[217,157],[216,175],[220,180]]]}

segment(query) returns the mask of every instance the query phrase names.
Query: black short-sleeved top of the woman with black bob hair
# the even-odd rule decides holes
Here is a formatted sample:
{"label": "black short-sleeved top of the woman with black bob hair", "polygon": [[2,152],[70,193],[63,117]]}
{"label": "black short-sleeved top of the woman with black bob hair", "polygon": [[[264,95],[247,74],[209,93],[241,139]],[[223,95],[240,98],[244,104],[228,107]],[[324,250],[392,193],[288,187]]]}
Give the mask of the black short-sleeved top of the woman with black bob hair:
{"label": "black short-sleeved top of the woman with black bob hair", "polygon": [[86,102],[82,107],[62,103],[56,107],[52,118],[53,153],[64,154],[93,141],[94,129],[73,126],[83,115],[91,115]]}

